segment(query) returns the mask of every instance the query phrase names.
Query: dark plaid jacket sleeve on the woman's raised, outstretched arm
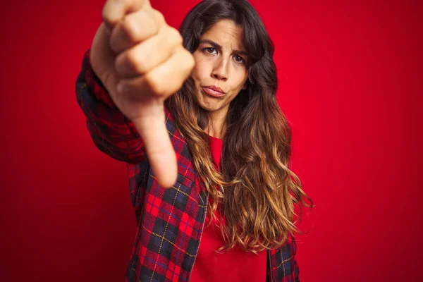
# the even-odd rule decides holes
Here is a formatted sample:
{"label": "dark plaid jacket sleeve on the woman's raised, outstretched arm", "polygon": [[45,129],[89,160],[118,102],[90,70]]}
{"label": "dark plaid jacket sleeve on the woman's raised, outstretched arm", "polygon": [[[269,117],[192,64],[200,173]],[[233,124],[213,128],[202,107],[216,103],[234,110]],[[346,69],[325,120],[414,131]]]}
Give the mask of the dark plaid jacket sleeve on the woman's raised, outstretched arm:
{"label": "dark plaid jacket sleeve on the woman's raised, outstretched arm", "polygon": [[90,64],[90,50],[82,60],[75,83],[76,99],[87,118],[87,129],[94,145],[105,154],[130,164],[145,161],[145,147],[135,125],[111,100]]}

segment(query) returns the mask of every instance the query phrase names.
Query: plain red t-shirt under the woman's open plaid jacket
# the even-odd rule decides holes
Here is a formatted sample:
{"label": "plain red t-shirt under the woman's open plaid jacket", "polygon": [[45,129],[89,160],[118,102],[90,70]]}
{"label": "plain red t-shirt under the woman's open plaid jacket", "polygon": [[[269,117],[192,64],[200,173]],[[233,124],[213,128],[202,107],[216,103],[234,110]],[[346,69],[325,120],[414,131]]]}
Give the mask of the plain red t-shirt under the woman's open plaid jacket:
{"label": "plain red t-shirt under the woman's open plaid jacket", "polygon": [[[222,140],[210,137],[212,156],[217,167],[220,169],[220,159],[223,147]],[[216,210],[216,216],[220,218]],[[224,217],[222,216],[223,222]],[[191,282],[265,282],[266,281],[266,250],[255,255],[245,252],[238,245],[230,251],[219,254],[214,250],[225,245],[218,226],[207,226],[210,222],[206,216],[204,231],[200,241],[200,248],[192,269]]]}

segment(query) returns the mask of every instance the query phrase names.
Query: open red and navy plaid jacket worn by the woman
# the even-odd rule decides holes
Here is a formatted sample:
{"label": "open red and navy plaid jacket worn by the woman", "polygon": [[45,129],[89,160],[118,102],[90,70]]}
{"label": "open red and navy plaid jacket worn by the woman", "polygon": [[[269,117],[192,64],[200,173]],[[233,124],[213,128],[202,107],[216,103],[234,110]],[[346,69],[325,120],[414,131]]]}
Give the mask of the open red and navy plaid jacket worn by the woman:
{"label": "open red and navy plaid jacket worn by the woman", "polygon": [[[160,188],[154,178],[142,139],[133,123],[116,108],[102,82],[94,75],[90,51],[82,60],[75,88],[94,145],[128,164],[137,233],[125,281],[190,281],[204,227],[208,194],[196,177],[190,150],[180,137],[171,114],[166,110],[166,128],[178,160],[178,180],[173,188],[166,190]],[[296,249],[290,235],[283,247],[267,251],[267,281],[300,281]]]}

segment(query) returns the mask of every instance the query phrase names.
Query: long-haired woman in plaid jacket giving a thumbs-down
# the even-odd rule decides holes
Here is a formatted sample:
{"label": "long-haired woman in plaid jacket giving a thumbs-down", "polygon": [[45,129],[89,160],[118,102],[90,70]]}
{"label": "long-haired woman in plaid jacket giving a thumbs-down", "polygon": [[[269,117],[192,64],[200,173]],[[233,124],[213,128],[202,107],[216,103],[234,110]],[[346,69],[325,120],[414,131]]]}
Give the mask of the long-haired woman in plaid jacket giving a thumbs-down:
{"label": "long-haired woman in plaid jacket giving a thumbs-down", "polygon": [[103,19],[76,93],[94,144],[129,166],[125,281],[299,281],[294,204],[312,202],[255,9],[202,1],[180,36],[149,1],[107,1]]}

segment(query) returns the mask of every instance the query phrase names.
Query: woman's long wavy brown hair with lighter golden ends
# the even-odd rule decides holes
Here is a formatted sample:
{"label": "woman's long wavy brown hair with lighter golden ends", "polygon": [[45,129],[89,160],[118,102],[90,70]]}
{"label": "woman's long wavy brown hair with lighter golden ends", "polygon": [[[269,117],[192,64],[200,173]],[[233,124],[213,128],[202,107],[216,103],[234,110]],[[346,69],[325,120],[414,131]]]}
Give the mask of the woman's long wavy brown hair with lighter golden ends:
{"label": "woman's long wavy brown hair with lighter golden ends", "polygon": [[[248,53],[247,89],[231,102],[226,116],[221,172],[210,152],[204,131],[209,114],[195,97],[192,78],[166,100],[176,126],[188,142],[197,176],[212,197],[209,215],[220,205],[226,224],[220,228],[230,250],[235,244],[247,252],[280,247],[289,233],[299,232],[294,207],[313,207],[298,177],[288,168],[291,131],[276,100],[278,80],[273,61],[274,44],[255,9],[245,0],[205,0],[197,4],[180,26],[186,49],[194,52],[201,35],[219,20],[233,20],[243,28]],[[310,204],[304,200],[307,198]]]}

